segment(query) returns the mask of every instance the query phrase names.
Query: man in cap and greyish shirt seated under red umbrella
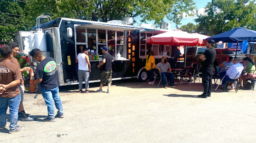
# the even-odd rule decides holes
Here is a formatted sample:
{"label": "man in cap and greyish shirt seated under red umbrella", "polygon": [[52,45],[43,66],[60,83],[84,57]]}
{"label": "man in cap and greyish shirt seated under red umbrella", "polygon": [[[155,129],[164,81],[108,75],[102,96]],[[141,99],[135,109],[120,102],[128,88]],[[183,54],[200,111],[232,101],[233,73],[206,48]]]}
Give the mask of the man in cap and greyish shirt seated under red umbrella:
{"label": "man in cap and greyish shirt seated under red umbrella", "polygon": [[[158,71],[161,74],[162,77],[162,84],[164,88],[167,88],[167,83],[169,81],[169,85],[171,87],[174,87],[174,75],[172,73],[170,73],[171,69],[170,69],[170,64],[169,62],[167,62],[167,58],[166,56],[163,56],[161,59],[161,62],[157,63],[154,68],[158,69]],[[165,79],[165,77],[167,78],[167,81]]]}

